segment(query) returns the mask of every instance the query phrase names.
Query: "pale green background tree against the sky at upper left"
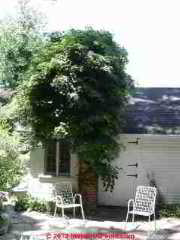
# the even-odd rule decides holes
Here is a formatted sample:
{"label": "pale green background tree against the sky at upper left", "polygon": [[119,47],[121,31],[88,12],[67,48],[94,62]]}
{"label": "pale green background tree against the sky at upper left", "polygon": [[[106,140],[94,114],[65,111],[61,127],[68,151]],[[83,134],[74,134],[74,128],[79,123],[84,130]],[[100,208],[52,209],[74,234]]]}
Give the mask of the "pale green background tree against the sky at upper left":
{"label": "pale green background tree against the sky at upper left", "polygon": [[33,55],[42,46],[40,16],[29,2],[19,1],[16,18],[0,23],[0,83],[12,89],[24,80]]}

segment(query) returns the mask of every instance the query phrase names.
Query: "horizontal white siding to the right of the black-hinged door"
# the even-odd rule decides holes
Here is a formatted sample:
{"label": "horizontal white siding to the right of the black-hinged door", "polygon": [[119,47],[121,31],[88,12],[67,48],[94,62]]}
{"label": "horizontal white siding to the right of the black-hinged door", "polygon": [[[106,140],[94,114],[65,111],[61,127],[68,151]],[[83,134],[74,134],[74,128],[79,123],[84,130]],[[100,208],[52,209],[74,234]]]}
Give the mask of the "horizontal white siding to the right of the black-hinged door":
{"label": "horizontal white siding to the right of the black-hinged door", "polygon": [[180,137],[157,136],[141,144],[143,168],[155,179],[167,203],[180,201]]}

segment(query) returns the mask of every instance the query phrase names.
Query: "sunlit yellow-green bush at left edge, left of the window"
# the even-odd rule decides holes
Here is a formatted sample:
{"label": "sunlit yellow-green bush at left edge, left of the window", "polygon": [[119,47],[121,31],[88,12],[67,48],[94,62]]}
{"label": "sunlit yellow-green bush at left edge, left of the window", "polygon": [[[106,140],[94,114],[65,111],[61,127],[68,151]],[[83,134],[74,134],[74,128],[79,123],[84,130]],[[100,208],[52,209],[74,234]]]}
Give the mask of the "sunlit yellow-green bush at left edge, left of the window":
{"label": "sunlit yellow-green bush at left edge, left of the window", "polygon": [[20,181],[23,164],[19,154],[18,136],[11,135],[7,123],[0,123],[0,186],[8,191]]}

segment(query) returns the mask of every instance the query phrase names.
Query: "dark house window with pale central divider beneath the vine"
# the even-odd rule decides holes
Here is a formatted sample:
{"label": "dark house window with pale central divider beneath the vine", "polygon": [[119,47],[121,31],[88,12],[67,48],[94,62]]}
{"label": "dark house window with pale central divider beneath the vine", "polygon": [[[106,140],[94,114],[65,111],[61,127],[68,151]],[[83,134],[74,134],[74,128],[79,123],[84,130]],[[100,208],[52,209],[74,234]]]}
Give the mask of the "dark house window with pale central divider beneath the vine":
{"label": "dark house window with pale central divider beneath the vine", "polygon": [[50,141],[46,147],[45,172],[55,176],[70,176],[70,147],[67,141]]}

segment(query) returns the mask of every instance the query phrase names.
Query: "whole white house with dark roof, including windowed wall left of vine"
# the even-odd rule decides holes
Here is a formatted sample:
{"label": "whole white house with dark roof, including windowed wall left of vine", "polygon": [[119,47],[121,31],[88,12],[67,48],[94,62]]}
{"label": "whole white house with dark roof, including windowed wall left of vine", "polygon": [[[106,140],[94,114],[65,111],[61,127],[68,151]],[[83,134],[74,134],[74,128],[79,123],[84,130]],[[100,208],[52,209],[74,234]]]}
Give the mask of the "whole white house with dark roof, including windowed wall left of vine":
{"label": "whole white house with dark roof, including windowed wall left of vine", "polygon": [[[155,183],[168,203],[180,201],[180,89],[138,88],[126,115],[125,146],[113,164],[120,168],[114,191],[99,181],[100,205],[127,206],[137,185]],[[31,152],[28,190],[50,196],[59,181],[70,181],[78,191],[78,159],[66,143],[51,142]],[[48,195],[49,192],[49,195]]]}

